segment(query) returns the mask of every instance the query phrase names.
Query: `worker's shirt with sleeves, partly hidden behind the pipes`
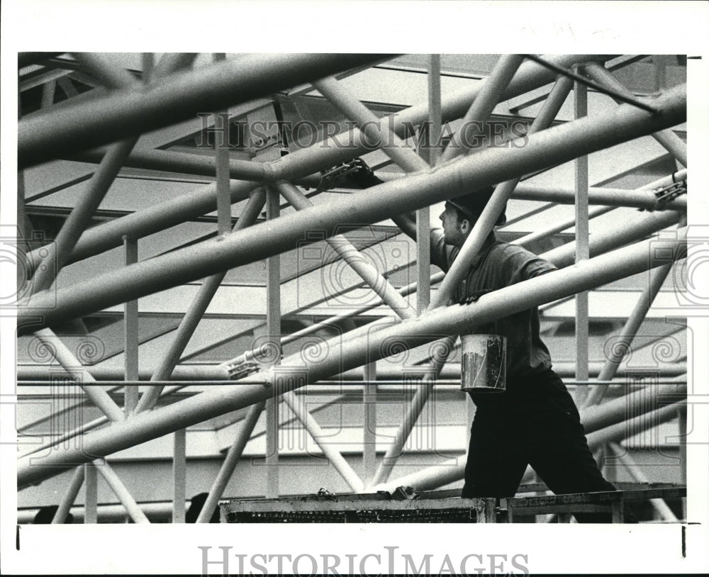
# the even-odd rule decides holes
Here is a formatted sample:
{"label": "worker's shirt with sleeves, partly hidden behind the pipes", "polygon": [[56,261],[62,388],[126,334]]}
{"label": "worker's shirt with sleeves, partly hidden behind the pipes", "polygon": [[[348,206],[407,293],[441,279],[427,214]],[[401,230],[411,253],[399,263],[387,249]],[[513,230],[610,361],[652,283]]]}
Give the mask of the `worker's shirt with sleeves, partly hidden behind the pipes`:
{"label": "worker's shirt with sleeves, partly hidden behind the pipes", "polygon": [[[431,231],[432,260],[444,264],[445,272],[459,253],[459,248],[446,245],[443,230]],[[479,254],[473,259],[467,276],[454,294],[458,303],[476,291],[502,289],[505,286],[532,279],[555,270],[553,264],[518,245],[497,240],[494,233],[483,243]],[[507,338],[507,379],[537,374],[552,366],[549,350],[539,335],[539,310],[537,307],[523,310],[486,325],[471,327],[469,331],[480,335],[501,335]]]}

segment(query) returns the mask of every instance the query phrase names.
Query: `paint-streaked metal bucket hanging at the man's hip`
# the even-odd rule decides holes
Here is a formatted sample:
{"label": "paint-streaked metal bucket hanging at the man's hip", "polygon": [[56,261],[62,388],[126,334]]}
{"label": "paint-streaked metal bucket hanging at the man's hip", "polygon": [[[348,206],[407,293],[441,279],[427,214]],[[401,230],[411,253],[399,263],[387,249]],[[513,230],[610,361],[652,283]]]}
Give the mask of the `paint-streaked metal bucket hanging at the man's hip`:
{"label": "paint-streaked metal bucket hanging at the man's hip", "polygon": [[463,361],[460,390],[503,393],[507,369],[507,340],[498,335],[461,335]]}

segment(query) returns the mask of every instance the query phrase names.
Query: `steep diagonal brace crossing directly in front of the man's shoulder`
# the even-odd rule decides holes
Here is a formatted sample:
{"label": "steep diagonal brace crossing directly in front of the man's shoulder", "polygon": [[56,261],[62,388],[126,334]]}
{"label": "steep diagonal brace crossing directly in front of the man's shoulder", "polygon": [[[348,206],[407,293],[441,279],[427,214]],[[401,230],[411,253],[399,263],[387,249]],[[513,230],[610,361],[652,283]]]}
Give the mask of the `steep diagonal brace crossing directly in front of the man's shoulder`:
{"label": "steep diagonal brace crossing directly in front of the man's shoulder", "polygon": [[[540,111],[537,118],[532,122],[529,131],[530,134],[549,128],[549,125],[552,124],[557,113],[559,113],[559,110],[562,108],[566,97],[569,96],[571,86],[571,81],[567,78],[557,80],[552,92],[549,94],[549,98],[545,101],[544,106],[542,106],[542,111]],[[471,262],[473,262],[473,259],[480,252],[490,231],[493,230],[499,215],[505,210],[507,201],[510,196],[512,196],[519,181],[520,179],[517,177],[501,182],[495,187],[493,195],[478,220],[474,223],[473,230],[471,230],[471,233],[465,240],[458,256],[447,272],[445,279],[443,279],[438,291],[436,291],[435,296],[431,299],[430,308],[445,306],[448,301],[450,301],[453,293],[467,275]]]}

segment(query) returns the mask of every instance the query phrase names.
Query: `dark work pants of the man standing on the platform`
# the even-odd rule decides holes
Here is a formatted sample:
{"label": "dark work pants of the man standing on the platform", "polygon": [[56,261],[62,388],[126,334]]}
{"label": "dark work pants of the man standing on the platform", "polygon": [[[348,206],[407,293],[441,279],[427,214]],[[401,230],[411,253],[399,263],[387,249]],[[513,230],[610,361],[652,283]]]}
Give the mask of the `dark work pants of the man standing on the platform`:
{"label": "dark work pants of the man standing on the platform", "polygon": [[[504,393],[471,396],[476,411],[463,497],[513,497],[527,465],[556,494],[615,491],[598,471],[576,404],[553,371],[510,381]],[[611,522],[605,513],[575,517]]]}

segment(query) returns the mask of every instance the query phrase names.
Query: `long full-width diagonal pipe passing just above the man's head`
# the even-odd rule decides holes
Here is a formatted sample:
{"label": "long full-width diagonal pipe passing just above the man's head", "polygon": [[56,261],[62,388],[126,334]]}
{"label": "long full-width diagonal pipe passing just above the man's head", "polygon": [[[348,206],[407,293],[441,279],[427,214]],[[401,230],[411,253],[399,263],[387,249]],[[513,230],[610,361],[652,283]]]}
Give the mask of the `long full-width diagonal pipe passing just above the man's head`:
{"label": "long full-width diagonal pipe passing just above the man's head", "polygon": [[545,167],[549,162],[564,162],[598,147],[632,140],[686,117],[683,87],[658,98],[657,106],[663,113],[652,118],[630,105],[619,106],[608,115],[582,118],[532,135],[523,148],[489,148],[437,167],[432,174],[414,174],[405,181],[380,184],[327,206],[313,206],[307,211],[282,216],[278,230],[272,230],[269,225],[257,225],[223,240],[201,242],[121,271],[111,271],[60,289],[56,294],[38,293],[26,308],[18,311],[18,330],[26,332],[23,325],[38,313],[43,314],[45,323],[57,323],[291,250],[304,242],[306,228],[324,230],[325,236],[333,235],[337,225],[343,222],[374,223],[401,213],[403,207],[423,208]]}

